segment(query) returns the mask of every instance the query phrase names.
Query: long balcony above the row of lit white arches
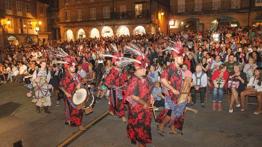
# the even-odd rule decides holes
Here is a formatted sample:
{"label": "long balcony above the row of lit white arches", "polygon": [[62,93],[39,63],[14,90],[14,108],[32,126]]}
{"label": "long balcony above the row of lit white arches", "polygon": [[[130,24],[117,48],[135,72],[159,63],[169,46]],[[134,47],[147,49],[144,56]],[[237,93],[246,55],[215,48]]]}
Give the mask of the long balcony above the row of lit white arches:
{"label": "long balcony above the row of lit white arches", "polygon": [[126,12],[110,12],[110,13],[98,13],[82,16],[69,16],[60,17],[60,23],[68,22],[82,22],[82,21],[95,21],[95,20],[113,20],[113,19],[132,19],[132,18],[150,18],[149,10],[141,11],[126,11]]}

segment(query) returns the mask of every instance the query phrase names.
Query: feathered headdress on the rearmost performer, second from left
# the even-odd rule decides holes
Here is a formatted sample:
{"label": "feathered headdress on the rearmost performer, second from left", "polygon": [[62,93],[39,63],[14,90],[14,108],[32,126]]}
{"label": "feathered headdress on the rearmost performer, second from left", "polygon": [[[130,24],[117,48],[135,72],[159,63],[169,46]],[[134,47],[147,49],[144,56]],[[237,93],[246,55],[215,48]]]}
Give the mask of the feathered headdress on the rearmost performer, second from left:
{"label": "feathered headdress on the rearmost performer, second from left", "polygon": [[108,52],[107,50],[104,51],[103,54],[99,54],[100,57],[111,57],[112,62],[116,63],[116,61],[120,60],[121,57],[123,56],[123,53],[118,51],[118,48],[116,47],[116,44],[111,43],[110,44],[111,49],[113,50],[113,54],[111,54],[110,52]]}

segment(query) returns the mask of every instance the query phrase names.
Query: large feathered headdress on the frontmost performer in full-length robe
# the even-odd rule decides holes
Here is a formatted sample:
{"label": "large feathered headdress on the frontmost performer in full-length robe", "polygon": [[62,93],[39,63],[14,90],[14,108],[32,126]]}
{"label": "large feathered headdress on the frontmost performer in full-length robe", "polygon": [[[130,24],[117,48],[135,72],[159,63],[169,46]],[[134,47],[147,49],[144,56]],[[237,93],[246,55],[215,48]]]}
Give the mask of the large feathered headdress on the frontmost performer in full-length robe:
{"label": "large feathered headdress on the frontmost performer in full-length robe", "polygon": [[129,43],[124,47],[124,50],[127,54],[130,54],[131,57],[135,57],[135,59],[122,57],[122,60],[116,61],[116,63],[118,63],[118,68],[124,68],[128,64],[134,64],[135,69],[149,66],[149,60],[146,58],[145,54],[141,52],[138,46]]}

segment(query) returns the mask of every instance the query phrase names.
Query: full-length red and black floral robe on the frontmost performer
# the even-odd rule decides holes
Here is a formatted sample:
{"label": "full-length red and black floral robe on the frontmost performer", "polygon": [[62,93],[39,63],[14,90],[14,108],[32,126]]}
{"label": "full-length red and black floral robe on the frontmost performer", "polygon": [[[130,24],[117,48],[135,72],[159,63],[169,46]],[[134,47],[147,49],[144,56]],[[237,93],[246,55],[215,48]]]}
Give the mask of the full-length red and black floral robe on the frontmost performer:
{"label": "full-length red and black floral robe on the frontmost performer", "polygon": [[[146,77],[146,82],[132,75],[127,82],[127,97],[131,99],[131,95],[144,99],[150,106],[150,95],[152,94],[151,85]],[[130,100],[129,100],[130,101]],[[134,102],[134,101],[133,101]],[[136,141],[143,146],[146,143],[152,143],[151,136],[151,109],[144,109],[139,103],[130,102],[128,107],[128,125],[127,137],[131,139],[131,143],[136,145]]]}

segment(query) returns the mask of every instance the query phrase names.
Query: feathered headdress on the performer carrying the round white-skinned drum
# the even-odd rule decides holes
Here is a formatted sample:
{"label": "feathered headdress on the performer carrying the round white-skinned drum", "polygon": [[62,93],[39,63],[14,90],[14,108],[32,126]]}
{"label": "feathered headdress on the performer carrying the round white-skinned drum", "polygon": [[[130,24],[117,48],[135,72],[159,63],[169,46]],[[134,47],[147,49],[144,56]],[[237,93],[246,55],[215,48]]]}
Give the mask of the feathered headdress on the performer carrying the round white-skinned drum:
{"label": "feathered headdress on the performer carrying the round white-skinned drum", "polygon": [[60,50],[58,51],[57,54],[55,54],[55,56],[59,58],[62,57],[63,59],[61,61],[53,60],[53,64],[59,64],[59,66],[64,64],[65,69],[67,69],[68,67],[77,65],[76,59],[74,57],[69,56],[64,50],[62,50],[62,48],[60,48]]}

